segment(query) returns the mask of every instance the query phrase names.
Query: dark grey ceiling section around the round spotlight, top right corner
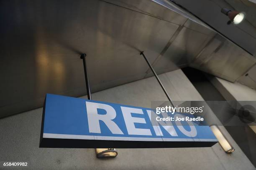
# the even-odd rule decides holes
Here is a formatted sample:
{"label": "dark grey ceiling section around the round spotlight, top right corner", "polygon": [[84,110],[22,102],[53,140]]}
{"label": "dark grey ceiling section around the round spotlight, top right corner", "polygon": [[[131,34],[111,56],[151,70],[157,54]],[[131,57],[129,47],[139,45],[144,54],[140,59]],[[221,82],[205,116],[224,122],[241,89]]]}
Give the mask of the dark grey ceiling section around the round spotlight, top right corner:
{"label": "dark grey ceiling section around the round spotlight, top right corner", "polygon": [[[220,34],[236,43],[251,55],[256,55],[256,5],[246,0],[172,0]],[[244,11],[246,20],[239,25],[227,25],[227,16],[220,12],[221,8]]]}

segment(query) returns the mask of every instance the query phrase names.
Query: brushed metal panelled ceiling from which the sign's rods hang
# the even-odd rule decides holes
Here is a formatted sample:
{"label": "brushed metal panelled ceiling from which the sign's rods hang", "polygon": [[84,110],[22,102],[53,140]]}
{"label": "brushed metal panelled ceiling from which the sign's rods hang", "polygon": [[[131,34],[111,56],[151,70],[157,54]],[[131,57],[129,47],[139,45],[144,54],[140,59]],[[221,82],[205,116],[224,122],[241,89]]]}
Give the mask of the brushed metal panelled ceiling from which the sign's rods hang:
{"label": "brushed metal panelled ceiling from which the sign's rods hang", "polygon": [[93,92],[151,76],[140,51],[158,73],[191,65],[230,81],[256,62],[151,0],[6,0],[0,24],[0,117],[41,107],[46,93],[85,95],[81,53]]}

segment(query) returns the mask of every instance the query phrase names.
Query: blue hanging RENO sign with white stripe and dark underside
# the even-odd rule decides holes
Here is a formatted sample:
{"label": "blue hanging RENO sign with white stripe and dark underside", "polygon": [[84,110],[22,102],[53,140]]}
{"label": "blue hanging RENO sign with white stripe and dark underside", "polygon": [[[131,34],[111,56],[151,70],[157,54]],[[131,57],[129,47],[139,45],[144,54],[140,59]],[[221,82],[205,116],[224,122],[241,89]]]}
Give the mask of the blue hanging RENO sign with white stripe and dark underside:
{"label": "blue hanging RENO sign with white stripe and dark underside", "polygon": [[[175,113],[172,116],[178,115],[183,114]],[[152,119],[156,116],[159,115],[150,108],[46,94],[40,147],[64,146],[64,144],[59,144],[59,147],[51,146],[54,142],[49,142],[49,139],[59,139],[59,143],[61,143],[60,139],[69,139],[62,140],[65,143],[87,141],[90,142],[88,148],[103,146],[100,145],[100,140],[115,141],[115,145],[117,141],[203,142],[204,145],[196,145],[199,147],[211,146],[217,142],[209,126],[199,126],[197,122],[186,121],[180,122],[179,125],[176,122],[171,122],[171,125],[159,122],[155,125]],[[193,115],[189,114],[189,116]],[[44,140],[48,141],[45,146]],[[94,140],[97,140],[99,145],[92,145]],[[210,142],[210,145],[205,145],[207,142]],[[69,145],[68,148],[87,147]],[[125,146],[120,148],[130,147],[125,143]],[[149,148],[159,147],[151,145]]]}

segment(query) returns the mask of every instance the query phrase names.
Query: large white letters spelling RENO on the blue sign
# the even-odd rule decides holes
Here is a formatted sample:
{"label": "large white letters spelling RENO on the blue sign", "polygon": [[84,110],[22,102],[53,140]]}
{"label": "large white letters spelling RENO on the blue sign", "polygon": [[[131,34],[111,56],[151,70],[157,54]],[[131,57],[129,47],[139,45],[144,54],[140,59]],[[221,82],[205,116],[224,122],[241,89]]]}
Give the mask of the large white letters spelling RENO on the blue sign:
{"label": "large white letters spelling RENO on the blue sign", "polygon": [[[113,121],[116,117],[116,112],[113,107],[110,105],[95,103],[95,102],[86,102],[87,115],[88,115],[88,125],[90,133],[101,133],[100,130],[100,120],[105,123],[105,125],[109,128],[111,133],[113,134],[123,134],[122,130],[118,127],[118,125]],[[106,114],[98,114],[97,109],[105,110]],[[123,113],[123,118],[125,121],[125,125],[129,135],[152,135],[150,129],[146,128],[136,128],[134,123],[146,123],[145,118],[143,117],[133,117],[132,114],[141,114],[143,115],[143,110],[133,107],[123,107],[121,106],[121,110]],[[149,118],[156,118],[156,113],[153,110],[147,110]],[[165,113],[162,113],[163,115]],[[164,115],[167,117],[167,115]],[[181,114],[174,115],[176,117],[184,117]],[[161,125],[170,135],[178,136],[173,124],[171,121],[159,121],[159,125]],[[180,121],[176,121],[177,128],[188,137],[195,137],[197,135],[197,130],[195,125],[192,122],[188,122],[190,131],[187,131],[181,124]],[[163,136],[159,125],[153,125],[154,131],[157,136]]]}

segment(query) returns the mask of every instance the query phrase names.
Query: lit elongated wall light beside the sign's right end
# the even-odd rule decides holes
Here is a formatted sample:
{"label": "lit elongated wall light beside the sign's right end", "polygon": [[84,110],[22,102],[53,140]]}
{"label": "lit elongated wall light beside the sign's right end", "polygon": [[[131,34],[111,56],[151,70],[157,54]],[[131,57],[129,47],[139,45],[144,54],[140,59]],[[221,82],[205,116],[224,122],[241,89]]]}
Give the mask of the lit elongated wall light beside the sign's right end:
{"label": "lit elongated wall light beside the sign's right end", "polygon": [[221,133],[220,129],[218,128],[217,125],[211,125],[210,126],[213,134],[215,137],[218,139],[220,146],[223,148],[223,150],[226,153],[233,153],[235,149],[233,146],[228,142],[228,140],[225,138],[225,136]]}

